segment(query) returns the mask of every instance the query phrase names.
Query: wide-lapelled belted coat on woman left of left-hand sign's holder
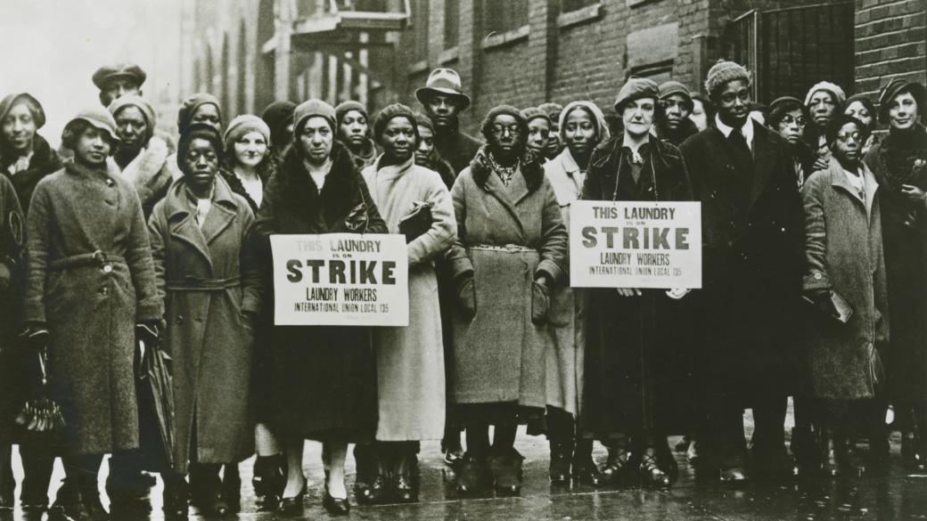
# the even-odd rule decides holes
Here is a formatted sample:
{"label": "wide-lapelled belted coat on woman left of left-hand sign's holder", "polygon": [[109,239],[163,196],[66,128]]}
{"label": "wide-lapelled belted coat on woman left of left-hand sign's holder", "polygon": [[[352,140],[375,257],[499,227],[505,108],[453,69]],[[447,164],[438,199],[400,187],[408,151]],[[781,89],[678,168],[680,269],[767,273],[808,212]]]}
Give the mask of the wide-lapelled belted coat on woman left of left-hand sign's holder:
{"label": "wide-lapelled belted coat on woman left of left-hand sign's holder", "polygon": [[191,438],[200,463],[252,452],[253,332],[242,313],[260,311],[260,276],[248,202],[217,176],[212,208],[197,225],[184,179],[154,209],[148,235],[165,300],[164,346],[173,358],[174,470],[185,474]]}

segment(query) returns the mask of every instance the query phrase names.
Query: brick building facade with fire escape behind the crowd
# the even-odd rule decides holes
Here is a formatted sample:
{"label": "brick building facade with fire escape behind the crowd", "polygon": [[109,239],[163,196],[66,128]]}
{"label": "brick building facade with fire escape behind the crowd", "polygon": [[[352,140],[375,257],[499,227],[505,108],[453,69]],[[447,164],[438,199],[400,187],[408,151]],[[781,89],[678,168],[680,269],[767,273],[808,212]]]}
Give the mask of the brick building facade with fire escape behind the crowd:
{"label": "brick building facade with fire escape behind the crowd", "polygon": [[182,84],[219,95],[232,114],[285,97],[414,107],[436,67],[461,73],[470,128],[503,102],[609,108],[630,74],[700,90],[718,57],[755,70],[764,102],[822,79],[867,93],[892,76],[927,80],[923,0],[200,0],[187,9]]}

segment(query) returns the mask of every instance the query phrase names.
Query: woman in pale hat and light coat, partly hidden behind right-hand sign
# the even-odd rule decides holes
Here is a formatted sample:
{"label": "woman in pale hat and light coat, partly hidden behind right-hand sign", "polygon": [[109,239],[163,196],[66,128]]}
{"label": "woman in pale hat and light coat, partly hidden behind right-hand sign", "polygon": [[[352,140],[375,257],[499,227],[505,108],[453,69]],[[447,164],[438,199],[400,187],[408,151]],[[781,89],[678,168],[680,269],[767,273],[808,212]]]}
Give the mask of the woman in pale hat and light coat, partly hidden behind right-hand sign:
{"label": "woman in pale hat and light coat, partly hidden behind right-hand sign", "polygon": [[[568,104],[560,112],[557,127],[566,147],[544,164],[544,174],[569,229],[570,204],[582,193],[592,150],[608,140],[608,127],[602,110],[589,101]],[[568,483],[571,474],[578,482],[590,485],[597,485],[601,478],[592,461],[592,440],[579,436],[576,429],[586,350],[582,320],[581,299],[570,286],[557,287],[551,302],[554,342],[547,352],[547,436],[551,441],[551,482],[555,484]]]}

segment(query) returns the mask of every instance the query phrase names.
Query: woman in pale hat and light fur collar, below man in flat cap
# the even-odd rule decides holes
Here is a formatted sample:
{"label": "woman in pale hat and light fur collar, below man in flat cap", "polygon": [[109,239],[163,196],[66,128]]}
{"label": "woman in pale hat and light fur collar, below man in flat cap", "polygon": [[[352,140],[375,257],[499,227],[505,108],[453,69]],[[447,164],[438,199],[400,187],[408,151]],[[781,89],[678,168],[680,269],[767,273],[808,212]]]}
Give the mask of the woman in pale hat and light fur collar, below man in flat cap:
{"label": "woman in pale hat and light fur collar, below man in flat cap", "polygon": [[120,144],[109,167],[135,187],[145,219],[171,185],[167,143],[155,135],[155,109],[138,95],[123,95],[109,104]]}

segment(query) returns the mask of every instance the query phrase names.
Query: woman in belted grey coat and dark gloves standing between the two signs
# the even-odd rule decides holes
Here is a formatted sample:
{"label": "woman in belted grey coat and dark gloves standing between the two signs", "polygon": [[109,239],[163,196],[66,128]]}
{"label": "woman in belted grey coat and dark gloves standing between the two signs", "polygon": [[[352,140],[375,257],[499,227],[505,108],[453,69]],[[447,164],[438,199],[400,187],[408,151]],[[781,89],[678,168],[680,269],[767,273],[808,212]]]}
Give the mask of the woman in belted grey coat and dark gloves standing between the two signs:
{"label": "woman in belted grey coat and dark gloves standing between the two signs", "polygon": [[458,295],[451,400],[467,439],[457,485],[476,489],[491,473],[497,490],[514,493],[523,459],[514,450],[516,426],[547,405],[548,295],[564,282],[567,235],[539,159],[526,150],[518,109],[493,108],[482,133],[489,144],[451,190],[458,235],[447,255]]}

